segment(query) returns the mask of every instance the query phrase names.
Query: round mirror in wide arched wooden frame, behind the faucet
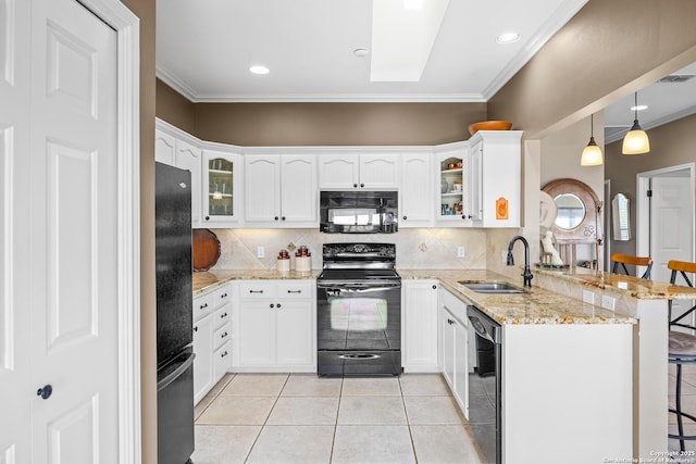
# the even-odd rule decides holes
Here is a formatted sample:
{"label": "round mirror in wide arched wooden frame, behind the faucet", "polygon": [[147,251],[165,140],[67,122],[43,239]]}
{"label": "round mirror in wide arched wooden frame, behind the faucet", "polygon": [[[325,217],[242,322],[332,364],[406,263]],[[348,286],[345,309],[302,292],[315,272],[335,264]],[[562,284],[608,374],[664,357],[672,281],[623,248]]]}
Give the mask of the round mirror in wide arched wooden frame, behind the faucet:
{"label": "round mirror in wide arched wooden frame, behind the faucet", "polygon": [[595,247],[597,266],[601,268],[601,202],[585,183],[564,178],[548,183],[542,189],[556,203],[557,215],[550,230],[560,248],[564,263],[576,265],[576,244],[591,243]]}

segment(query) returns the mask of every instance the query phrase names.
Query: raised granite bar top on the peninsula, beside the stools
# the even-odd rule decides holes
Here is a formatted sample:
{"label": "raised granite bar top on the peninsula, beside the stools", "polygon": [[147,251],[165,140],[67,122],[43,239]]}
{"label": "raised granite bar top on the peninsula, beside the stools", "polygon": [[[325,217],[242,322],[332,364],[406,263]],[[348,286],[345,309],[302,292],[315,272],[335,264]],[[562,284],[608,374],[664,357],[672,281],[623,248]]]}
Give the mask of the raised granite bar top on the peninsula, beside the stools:
{"label": "raised granite bar top on the peninsula, beside the stools", "polygon": [[639,277],[606,273],[585,267],[545,269],[535,267],[534,274],[545,274],[600,290],[624,291],[638,300],[694,300],[696,288],[669,283],[646,280]]}

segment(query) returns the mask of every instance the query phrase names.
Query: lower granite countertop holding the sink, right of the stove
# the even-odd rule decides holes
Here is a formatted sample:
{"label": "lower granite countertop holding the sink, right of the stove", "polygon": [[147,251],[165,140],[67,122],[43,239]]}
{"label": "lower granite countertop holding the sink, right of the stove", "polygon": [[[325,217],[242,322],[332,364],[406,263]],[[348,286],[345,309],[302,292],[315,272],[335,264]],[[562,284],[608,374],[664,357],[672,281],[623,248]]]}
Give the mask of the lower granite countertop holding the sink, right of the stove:
{"label": "lower granite countertop holding the sink, right of the stove", "polygon": [[523,289],[522,277],[514,281],[485,269],[399,269],[402,279],[437,279],[465,303],[474,304],[499,324],[635,324],[636,319],[584,303],[539,287],[525,293],[477,293],[459,280],[505,281]]}

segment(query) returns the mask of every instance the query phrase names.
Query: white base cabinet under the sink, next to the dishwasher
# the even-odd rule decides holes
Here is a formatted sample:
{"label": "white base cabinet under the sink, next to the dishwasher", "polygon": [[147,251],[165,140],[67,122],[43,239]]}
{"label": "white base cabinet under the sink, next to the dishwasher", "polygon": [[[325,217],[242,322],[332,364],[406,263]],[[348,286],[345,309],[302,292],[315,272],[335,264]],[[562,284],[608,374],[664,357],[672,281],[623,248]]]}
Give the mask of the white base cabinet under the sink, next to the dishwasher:
{"label": "white base cabinet under the sink, next to the dishwasher", "polygon": [[440,291],[443,375],[464,416],[469,417],[469,319],[467,304],[447,290]]}

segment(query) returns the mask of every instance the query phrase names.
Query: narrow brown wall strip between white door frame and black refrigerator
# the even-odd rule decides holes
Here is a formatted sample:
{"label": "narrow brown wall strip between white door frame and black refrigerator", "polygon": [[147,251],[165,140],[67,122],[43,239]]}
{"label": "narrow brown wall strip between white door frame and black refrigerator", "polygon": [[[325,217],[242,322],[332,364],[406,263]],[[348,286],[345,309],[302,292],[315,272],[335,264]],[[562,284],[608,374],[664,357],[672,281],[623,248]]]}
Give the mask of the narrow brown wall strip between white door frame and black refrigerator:
{"label": "narrow brown wall strip between white door frame and black refrigerator", "polygon": [[142,463],[157,463],[154,287],[156,0],[122,0],[140,18],[140,377]]}

